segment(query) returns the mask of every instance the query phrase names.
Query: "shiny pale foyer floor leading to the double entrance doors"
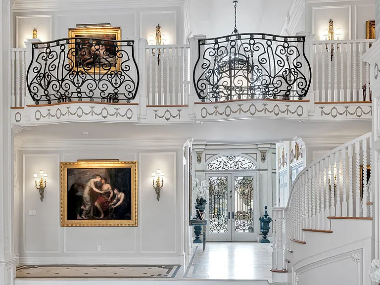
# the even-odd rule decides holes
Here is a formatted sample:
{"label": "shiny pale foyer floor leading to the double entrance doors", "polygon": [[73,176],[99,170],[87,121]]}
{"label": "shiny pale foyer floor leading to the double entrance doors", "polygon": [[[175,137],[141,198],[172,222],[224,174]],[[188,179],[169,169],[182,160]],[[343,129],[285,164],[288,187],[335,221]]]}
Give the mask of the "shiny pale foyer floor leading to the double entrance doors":
{"label": "shiny pale foyer floor leading to the double entrance doors", "polygon": [[184,278],[271,280],[272,243],[207,242],[198,246]]}

